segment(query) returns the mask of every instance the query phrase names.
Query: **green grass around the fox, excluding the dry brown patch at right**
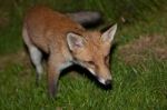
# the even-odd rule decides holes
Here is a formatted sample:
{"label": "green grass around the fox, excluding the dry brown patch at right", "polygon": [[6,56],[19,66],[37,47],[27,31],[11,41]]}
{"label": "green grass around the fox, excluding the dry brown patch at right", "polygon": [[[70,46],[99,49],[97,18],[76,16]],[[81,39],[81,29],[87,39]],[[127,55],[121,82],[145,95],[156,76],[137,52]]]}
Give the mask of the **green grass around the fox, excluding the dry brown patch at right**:
{"label": "green grass around the fox, excluding the dry brown patch at right", "polygon": [[[0,110],[166,110],[167,60],[159,60],[150,54],[147,60],[131,66],[119,59],[118,48],[140,36],[167,37],[167,14],[164,9],[166,2],[165,0],[153,1],[122,0],[122,3],[117,0],[3,1],[0,4],[0,13],[7,22],[0,23]],[[20,60],[19,54],[18,57],[13,54],[23,51],[21,24],[24,11],[39,2],[61,11],[97,9],[104,13],[106,24],[110,21],[119,22],[121,27],[116,34],[118,47],[111,60],[112,90],[104,90],[86,74],[76,72],[60,78],[56,99],[49,99],[47,96],[46,74],[40,86],[36,86],[35,70],[24,61],[28,59]],[[115,3],[118,7],[114,7]],[[65,4],[69,7],[63,7]],[[125,14],[124,4],[132,4],[134,11]],[[148,7],[145,9],[145,6]],[[120,21],[121,12],[128,18],[128,22]],[[153,12],[155,14],[151,14]]]}

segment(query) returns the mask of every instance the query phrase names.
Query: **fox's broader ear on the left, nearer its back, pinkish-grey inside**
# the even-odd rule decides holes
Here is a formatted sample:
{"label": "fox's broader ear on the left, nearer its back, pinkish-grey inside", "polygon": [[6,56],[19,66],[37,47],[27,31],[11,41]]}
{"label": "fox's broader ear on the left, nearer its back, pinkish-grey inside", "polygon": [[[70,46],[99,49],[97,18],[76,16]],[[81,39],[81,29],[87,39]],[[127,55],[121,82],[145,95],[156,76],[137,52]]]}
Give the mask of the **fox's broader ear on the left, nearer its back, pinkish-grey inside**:
{"label": "fox's broader ear on the left, nearer its back, pinkish-grey inside", "polygon": [[69,32],[67,34],[67,43],[68,43],[70,50],[85,47],[84,38],[79,34],[72,33],[72,32]]}

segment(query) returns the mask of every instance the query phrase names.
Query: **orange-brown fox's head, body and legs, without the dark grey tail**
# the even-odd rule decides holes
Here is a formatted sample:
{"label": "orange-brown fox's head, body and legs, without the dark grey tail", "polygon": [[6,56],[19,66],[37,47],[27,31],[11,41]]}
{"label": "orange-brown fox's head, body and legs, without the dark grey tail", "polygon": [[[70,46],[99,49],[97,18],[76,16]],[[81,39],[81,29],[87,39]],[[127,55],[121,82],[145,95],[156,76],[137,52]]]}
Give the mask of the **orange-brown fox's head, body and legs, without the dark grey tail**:
{"label": "orange-brown fox's head, body and legs, without the dark grey tail", "polygon": [[37,70],[37,80],[42,69],[42,52],[48,58],[48,91],[53,97],[60,72],[76,63],[90,71],[97,80],[111,83],[109,52],[117,24],[106,32],[88,31],[66,14],[47,7],[31,8],[23,21],[22,37]]}

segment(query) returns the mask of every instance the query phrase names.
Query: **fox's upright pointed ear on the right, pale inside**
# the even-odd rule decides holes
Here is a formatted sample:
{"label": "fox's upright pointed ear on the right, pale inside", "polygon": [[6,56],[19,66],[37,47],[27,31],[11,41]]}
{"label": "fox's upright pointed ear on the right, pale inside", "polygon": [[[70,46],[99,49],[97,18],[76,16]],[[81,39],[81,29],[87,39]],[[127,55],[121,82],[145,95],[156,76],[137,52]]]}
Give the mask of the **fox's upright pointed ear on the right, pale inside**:
{"label": "fox's upright pointed ear on the right, pale inside", "polygon": [[106,32],[102,33],[101,40],[104,42],[110,43],[114,40],[115,33],[117,30],[117,23],[109,28]]}

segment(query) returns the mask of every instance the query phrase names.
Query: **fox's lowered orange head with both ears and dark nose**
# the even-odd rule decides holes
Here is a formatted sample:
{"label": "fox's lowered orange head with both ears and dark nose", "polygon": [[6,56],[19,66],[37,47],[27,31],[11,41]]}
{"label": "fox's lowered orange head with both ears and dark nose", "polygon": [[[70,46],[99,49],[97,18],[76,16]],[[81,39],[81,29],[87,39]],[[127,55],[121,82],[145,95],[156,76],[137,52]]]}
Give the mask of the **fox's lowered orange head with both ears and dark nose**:
{"label": "fox's lowered orange head with both ears and dark nose", "polygon": [[106,32],[87,31],[82,34],[69,32],[67,43],[75,61],[88,69],[100,83],[111,83],[109,52],[117,30],[117,24]]}

